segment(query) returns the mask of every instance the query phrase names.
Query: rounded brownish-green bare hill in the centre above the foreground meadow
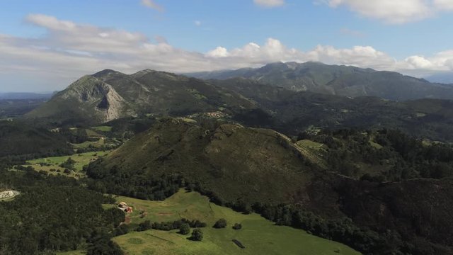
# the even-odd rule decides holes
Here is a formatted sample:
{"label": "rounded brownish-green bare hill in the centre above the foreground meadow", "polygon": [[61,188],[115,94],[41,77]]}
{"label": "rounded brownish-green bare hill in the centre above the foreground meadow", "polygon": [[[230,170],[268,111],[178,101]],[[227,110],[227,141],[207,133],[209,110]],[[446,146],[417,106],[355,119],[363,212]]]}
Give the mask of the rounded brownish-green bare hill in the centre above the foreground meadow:
{"label": "rounded brownish-green bare hill in the centre above the foreground meadow", "polygon": [[[292,202],[294,196],[304,193],[301,183],[313,174],[311,163],[301,157],[289,138],[273,130],[236,124],[204,127],[172,118],[132,137],[102,164],[106,172],[96,171],[93,165],[88,174],[105,177],[105,181],[114,181],[120,173],[180,174],[222,193],[225,200],[243,197],[247,203]],[[116,174],[110,169],[117,169]]]}

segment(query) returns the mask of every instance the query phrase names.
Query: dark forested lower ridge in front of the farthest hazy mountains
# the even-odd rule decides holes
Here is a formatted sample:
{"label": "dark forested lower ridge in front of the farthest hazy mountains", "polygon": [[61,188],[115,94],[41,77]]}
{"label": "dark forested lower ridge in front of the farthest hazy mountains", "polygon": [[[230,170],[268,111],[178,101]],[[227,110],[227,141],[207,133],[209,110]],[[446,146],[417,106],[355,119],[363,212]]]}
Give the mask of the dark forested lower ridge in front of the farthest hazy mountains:
{"label": "dark forested lower ridge in front of the farthest hazy mountains", "polygon": [[244,109],[234,120],[287,135],[309,129],[390,128],[432,140],[453,141],[453,101],[389,101],[291,91],[244,78],[210,80],[249,98],[260,108]]}

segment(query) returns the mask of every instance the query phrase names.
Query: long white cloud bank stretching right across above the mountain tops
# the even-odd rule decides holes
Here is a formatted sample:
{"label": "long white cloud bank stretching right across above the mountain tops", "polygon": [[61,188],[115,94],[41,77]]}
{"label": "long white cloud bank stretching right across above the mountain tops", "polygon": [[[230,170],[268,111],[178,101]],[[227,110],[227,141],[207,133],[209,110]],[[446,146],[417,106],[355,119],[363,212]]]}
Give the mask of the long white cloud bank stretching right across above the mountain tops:
{"label": "long white cloud bank stretching right across above the mountain tops", "polygon": [[[232,49],[219,46],[202,53],[173,47],[159,36],[151,40],[141,33],[99,28],[40,14],[30,15],[26,20],[45,28],[46,33],[38,38],[0,34],[0,90],[11,91],[23,84],[35,86],[35,90],[64,89],[84,74],[107,68],[125,73],[147,68],[183,73],[260,67],[278,61],[319,61],[416,76],[453,70],[453,50],[433,56],[408,56],[398,61],[371,46],[339,49],[318,45],[302,51],[268,38],[262,44],[249,42]],[[3,84],[11,89],[5,89]]]}

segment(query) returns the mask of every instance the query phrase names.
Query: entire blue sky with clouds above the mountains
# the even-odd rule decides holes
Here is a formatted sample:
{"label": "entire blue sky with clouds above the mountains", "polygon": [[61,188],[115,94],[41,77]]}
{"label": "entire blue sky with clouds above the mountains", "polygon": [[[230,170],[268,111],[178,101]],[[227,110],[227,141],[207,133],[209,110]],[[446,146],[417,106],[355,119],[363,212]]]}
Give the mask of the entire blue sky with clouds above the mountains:
{"label": "entire blue sky with clouds above the mountains", "polygon": [[453,0],[0,0],[0,92],[115,69],[318,61],[453,73]]}

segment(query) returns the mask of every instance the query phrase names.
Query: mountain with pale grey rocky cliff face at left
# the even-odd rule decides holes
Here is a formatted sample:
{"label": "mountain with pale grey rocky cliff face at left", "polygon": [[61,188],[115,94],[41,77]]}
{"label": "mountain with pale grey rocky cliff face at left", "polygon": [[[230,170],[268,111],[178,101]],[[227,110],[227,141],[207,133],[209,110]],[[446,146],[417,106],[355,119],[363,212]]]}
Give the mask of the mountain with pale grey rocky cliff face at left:
{"label": "mountain with pale grey rocky cliff face at left", "polygon": [[131,75],[105,69],[81,77],[28,117],[59,123],[104,123],[145,114],[229,114],[254,107],[243,96],[200,79],[149,69]]}

